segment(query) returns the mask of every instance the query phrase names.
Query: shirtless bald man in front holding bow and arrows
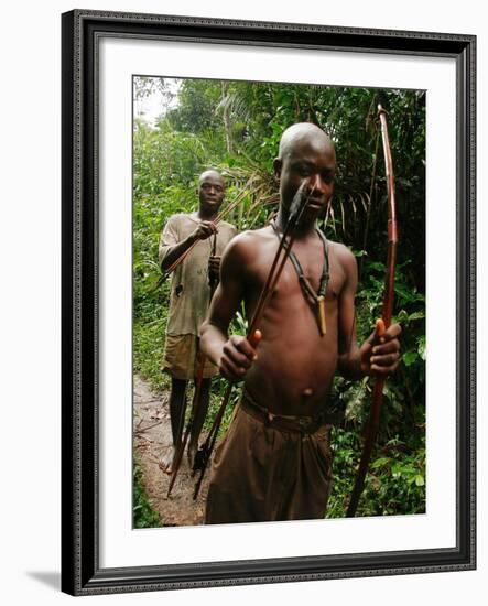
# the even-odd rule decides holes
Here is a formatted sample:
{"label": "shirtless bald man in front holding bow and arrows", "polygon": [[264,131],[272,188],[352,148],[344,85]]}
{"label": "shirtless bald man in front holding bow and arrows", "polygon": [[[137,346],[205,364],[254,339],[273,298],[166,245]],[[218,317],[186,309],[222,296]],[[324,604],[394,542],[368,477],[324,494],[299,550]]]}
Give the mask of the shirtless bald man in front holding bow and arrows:
{"label": "shirtless bald man in front holding bow and arrows", "polygon": [[[359,379],[398,366],[398,324],[381,337],[377,328],[358,346],[356,259],[344,245],[325,242],[315,228],[332,196],[335,169],[334,145],[318,127],[290,127],[274,161],[281,199],[274,226],[241,234],[224,255],[200,345],[221,375],[245,385],[215,453],[206,523],[323,518],[332,480],[327,397],[334,375]],[[325,277],[326,332],[316,300],[288,260],[253,348],[246,337],[229,337],[228,326],[241,301],[252,318],[301,185],[310,201],[293,251],[315,293]]]}

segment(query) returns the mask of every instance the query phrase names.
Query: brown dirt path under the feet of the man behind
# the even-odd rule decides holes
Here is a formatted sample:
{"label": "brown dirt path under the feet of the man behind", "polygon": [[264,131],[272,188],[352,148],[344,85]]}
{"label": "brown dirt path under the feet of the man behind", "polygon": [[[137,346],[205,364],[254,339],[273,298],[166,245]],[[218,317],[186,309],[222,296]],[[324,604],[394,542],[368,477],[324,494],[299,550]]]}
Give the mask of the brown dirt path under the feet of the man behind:
{"label": "brown dirt path under the feet of the man behind", "polygon": [[134,377],[134,451],[140,456],[144,488],[164,526],[200,524],[204,519],[209,469],[205,474],[198,498],[194,501],[195,478],[191,476],[186,453],[171,496],[166,498],[170,476],[160,466],[172,446],[167,400],[169,392],[155,393],[144,380]]}

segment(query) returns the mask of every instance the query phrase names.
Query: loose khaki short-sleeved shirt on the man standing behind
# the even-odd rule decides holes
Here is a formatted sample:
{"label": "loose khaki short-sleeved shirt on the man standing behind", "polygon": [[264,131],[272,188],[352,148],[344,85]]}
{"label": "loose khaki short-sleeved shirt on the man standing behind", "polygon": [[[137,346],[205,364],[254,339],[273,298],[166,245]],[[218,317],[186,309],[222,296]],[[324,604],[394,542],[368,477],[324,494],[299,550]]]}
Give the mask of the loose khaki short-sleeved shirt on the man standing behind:
{"label": "loose khaki short-sleeved shirt on the man standing behind", "polygon": [[[160,264],[170,247],[187,238],[200,221],[192,215],[173,215],[160,237]],[[234,225],[220,221],[217,226],[216,255],[221,256],[228,242],[236,236]],[[208,310],[208,259],[214,237],[199,240],[178,267],[172,272],[167,335],[198,335],[198,329]]]}

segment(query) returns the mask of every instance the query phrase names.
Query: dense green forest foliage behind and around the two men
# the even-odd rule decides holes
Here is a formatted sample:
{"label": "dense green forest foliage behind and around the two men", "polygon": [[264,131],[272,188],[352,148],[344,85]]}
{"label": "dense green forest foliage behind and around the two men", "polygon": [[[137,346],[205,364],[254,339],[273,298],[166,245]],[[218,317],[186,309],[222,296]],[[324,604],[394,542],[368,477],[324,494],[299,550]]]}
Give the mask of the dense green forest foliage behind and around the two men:
{"label": "dense green forest foliage behind and around the two men", "polygon": [[[133,148],[133,361],[154,388],[169,387],[160,371],[169,279],[158,267],[158,239],[170,215],[196,208],[198,174],[223,172],[229,218],[239,230],[260,227],[278,205],[272,161],[283,130],[312,121],[333,138],[335,194],[323,218],[326,236],[345,242],[360,269],[357,332],[361,343],[381,315],[387,257],[387,190],[376,107],[389,112],[400,229],[394,320],[403,327],[402,362],[386,387],[378,446],[358,516],[419,513],[425,509],[425,95],[269,83],[183,80],[177,93],[161,78],[135,78],[141,99],[159,88],[167,109],[154,127],[134,121]],[[235,329],[243,334],[242,322]],[[335,483],[327,517],[343,517],[361,448],[371,380],[337,378],[333,405]],[[224,381],[214,382],[216,409]],[[235,390],[234,403],[238,397]],[[230,410],[228,411],[230,413]],[[228,416],[227,416],[228,419]]]}

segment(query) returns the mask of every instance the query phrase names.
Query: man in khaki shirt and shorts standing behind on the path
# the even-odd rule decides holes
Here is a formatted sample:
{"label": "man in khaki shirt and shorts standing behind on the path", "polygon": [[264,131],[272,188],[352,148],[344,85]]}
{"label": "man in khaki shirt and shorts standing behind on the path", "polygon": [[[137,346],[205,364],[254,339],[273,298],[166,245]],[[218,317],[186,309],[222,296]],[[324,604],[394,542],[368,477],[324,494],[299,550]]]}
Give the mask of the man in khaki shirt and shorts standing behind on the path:
{"label": "man in khaki shirt and shorts standing behind on the path", "polygon": [[[214,223],[224,196],[225,184],[220,173],[214,170],[205,171],[198,181],[198,210],[170,217],[160,238],[159,260],[162,271],[171,268],[197,242],[172,274],[162,367],[171,375],[170,415],[173,450],[163,462],[166,473],[172,472],[174,453],[182,439],[187,382],[196,379],[200,366],[198,331],[208,309],[210,284],[218,281],[221,253],[237,232],[229,223]],[[188,444],[191,465],[208,408],[212,377],[217,372],[217,367],[205,360],[199,405]]]}

